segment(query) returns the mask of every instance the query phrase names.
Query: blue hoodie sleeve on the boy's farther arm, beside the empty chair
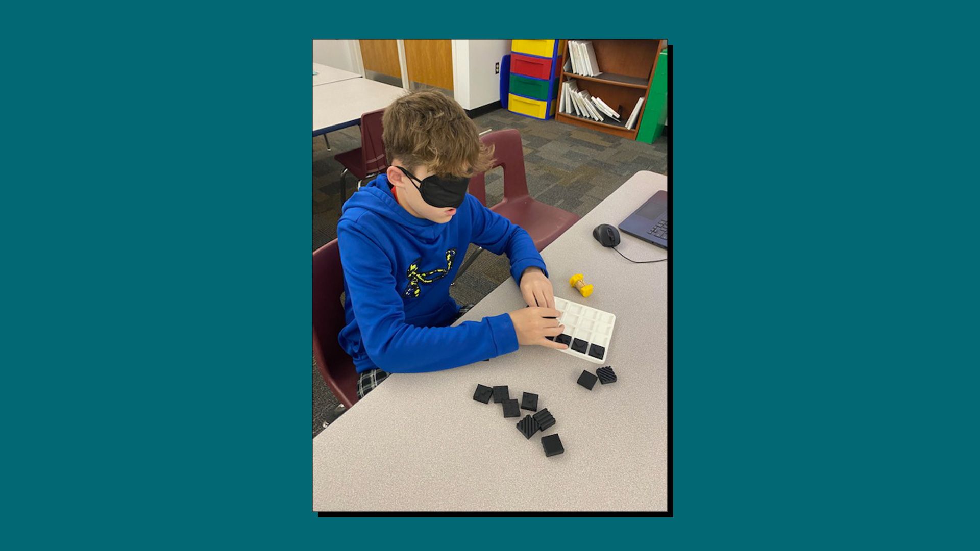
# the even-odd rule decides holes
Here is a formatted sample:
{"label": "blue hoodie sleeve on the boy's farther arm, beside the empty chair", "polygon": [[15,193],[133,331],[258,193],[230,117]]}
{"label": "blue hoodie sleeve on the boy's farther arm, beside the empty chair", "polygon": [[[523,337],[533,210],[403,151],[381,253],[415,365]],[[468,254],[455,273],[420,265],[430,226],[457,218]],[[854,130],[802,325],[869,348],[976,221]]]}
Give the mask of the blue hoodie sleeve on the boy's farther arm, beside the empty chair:
{"label": "blue hoodie sleeve on the boy's farther arm, beside the empty chair", "polygon": [[466,195],[466,200],[470,202],[473,213],[472,242],[495,255],[507,253],[511,261],[511,275],[514,275],[518,285],[524,270],[532,266],[540,268],[548,276],[545,261],[524,228],[484,207],[472,195]]}

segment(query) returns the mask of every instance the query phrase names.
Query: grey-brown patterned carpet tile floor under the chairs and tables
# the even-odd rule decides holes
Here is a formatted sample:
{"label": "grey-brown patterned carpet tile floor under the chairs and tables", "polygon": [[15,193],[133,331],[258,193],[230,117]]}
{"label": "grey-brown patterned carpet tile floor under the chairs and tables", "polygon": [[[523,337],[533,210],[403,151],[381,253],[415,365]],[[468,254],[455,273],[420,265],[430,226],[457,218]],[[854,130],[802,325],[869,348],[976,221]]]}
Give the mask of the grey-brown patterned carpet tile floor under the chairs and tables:
{"label": "grey-brown patterned carpet tile floor under the chairs and tables", "polygon": [[[516,128],[524,146],[527,187],[542,202],[585,216],[637,171],[667,173],[668,139],[653,145],[612,136],[598,130],[539,121],[498,109],[473,119],[480,131]],[[337,236],[342,204],[340,173],[333,156],[361,146],[361,130],[351,126],[328,134],[331,150],[322,137],[313,139],[313,250]],[[347,196],[357,181],[347,175]],[[486,175],[487,204],[503,199],[503,169]],[[470,245],[469,252],[474,247]],[[451,294],[461,304],[475,304],[510,277],[506,257],[484,252],[461,275]],[[337,399],[313,363],[313,435],[337,418]]]}

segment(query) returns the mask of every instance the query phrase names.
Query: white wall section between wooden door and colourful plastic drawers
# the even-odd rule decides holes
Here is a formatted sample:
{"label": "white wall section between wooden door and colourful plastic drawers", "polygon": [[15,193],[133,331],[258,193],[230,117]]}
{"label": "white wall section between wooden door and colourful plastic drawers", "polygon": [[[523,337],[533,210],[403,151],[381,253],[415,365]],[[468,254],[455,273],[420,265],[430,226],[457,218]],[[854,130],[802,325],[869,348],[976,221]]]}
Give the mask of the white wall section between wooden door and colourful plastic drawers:
{"label": "white wall section between wooden door and colourful plastic drawers", "polygon": [[453,96],[464,109],[500,100],[495,65],[509,53],[510,40],[453,40]]}

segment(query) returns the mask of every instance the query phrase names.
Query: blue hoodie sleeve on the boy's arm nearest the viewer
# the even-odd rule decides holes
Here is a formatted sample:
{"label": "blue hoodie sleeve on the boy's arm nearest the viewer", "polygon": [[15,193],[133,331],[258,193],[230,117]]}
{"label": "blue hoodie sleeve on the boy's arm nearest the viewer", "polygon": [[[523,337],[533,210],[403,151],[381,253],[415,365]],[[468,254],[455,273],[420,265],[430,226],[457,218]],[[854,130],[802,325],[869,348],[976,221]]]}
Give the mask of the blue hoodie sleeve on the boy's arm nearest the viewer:
{"label": "blue hoodie sleeve on the boy's arm nearest the viewer", "polygon": [[405,323],[402,297],[384,250],[357,223],[337,225],[340,261],[361,328],[365,350],[388,373],[421,373],[466,366],[517,350],[508,314],[455,327],[419,327]]}

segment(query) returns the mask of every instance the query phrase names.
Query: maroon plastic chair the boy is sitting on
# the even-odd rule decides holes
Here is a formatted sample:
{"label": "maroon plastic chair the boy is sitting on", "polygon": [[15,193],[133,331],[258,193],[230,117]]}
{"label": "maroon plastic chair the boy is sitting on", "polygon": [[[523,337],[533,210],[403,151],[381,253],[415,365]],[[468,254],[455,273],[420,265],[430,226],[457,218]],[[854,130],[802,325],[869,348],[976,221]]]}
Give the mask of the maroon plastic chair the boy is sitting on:
{"label": "maroon plastic chair the boy is sitting on", "polygon": [[319,375],[345,408],[358,401],[358,374],[354,361],[337,342],[344,327],[344,273],[340,248],[334,239],[313,252],[313,356]]}

